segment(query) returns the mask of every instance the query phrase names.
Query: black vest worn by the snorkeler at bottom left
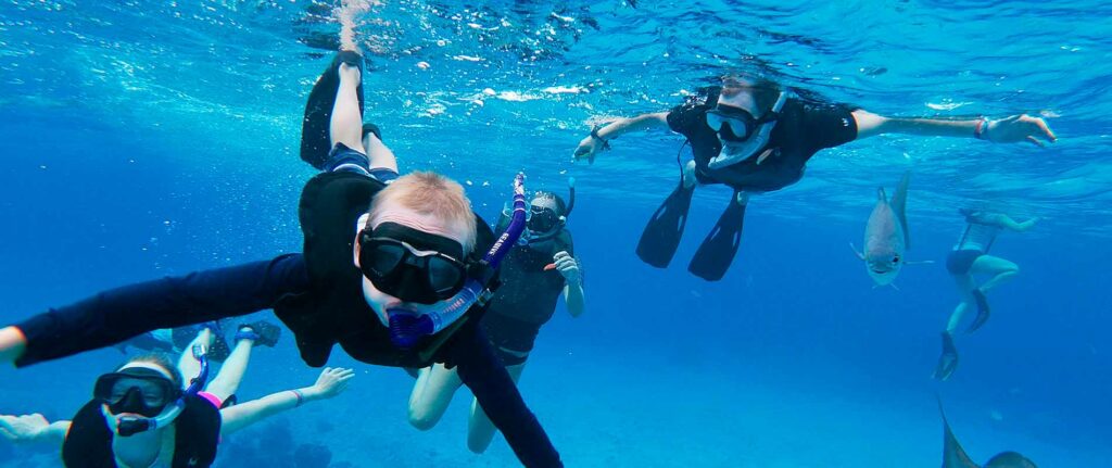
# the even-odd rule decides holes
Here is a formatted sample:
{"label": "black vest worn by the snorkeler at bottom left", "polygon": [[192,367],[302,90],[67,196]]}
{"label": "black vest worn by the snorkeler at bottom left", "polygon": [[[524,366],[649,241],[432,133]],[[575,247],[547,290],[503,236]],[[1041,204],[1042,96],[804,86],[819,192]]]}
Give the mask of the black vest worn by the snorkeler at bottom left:
{"label": "black vest worn by the snorkeler at bottom left", "polygon": [[[100,401],[86,404],[76,416],[62,444],[68,468],[116,468],[112,431],[100,411]],[[186,397],[186,408],[173,419],[173,456],[170,468],[203,468],[212,465],[220,440],[220,411],[196,396]],[[159,460],[162,455],[159,455]],[[158,466],[166,466],[158,464]]]}

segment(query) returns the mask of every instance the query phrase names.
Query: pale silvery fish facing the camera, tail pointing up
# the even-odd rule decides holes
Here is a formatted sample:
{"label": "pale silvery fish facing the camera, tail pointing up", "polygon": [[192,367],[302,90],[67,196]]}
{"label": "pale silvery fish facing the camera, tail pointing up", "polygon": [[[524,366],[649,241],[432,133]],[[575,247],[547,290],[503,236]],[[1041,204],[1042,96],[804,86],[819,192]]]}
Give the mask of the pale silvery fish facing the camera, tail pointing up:
{"label": "pale silvery fish facing the camera, tail pointing up", "polygon": [[883,187],[876,189],[876,206],[865,225],[865,250],[857,251],[853,243],[850,245],[865,262],[865,270],[876,286],[892,285],[903,266],[912,263],[904,256],[911,246],[905,215],[910,182],[911,171],[904,172],[892,200],[887,199]]}

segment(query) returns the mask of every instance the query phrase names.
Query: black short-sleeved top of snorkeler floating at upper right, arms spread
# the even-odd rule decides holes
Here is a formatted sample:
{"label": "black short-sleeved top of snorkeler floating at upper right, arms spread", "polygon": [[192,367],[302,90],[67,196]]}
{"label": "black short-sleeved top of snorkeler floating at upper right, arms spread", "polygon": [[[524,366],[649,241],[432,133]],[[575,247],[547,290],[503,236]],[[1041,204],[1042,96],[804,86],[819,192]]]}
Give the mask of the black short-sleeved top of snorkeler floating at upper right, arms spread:
{"label": "black short-sleeved top of snorkeler floating at upper right, arms spread", "polygon": [[695,157],[695,176],[701,183],[725,183],[739,191],[765,192],[791,186],[803,177],[804,167],[818,150],[844,145],[857,138],[853,109],[788,99],[780,121],[759,155],[773,148],[773,155],[759,166],[755,157],[721,169],[711,169],[711,159],[722,151],[715,130],[706,125],[706,111],[718,103],[719,87],[704,88],[682,106],[668,112],[668,127],[687,137]]}

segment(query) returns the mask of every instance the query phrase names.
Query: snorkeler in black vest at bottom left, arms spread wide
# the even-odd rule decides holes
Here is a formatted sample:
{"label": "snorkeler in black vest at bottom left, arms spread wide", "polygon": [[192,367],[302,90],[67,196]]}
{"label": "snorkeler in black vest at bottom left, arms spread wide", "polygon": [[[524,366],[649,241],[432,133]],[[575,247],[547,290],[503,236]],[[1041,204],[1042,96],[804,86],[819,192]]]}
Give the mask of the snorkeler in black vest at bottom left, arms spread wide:
{"label": "snorkeler in black vest at bottom left, arms spread wide", "polygon": [[[130,359],[97,379],[93,399],[72,421],[42,415],[0,416],[0,436],[16,442],[60,444],[67,467],[208,467],[220,439],[278,412],[341,394],[350,369],[325,369],[310,387],[231,405],[255,340],[242,333],[231,356],[208,380],[202,330],[179,360],[163,355]],[[182,376],[197,376],[185,381]]]}

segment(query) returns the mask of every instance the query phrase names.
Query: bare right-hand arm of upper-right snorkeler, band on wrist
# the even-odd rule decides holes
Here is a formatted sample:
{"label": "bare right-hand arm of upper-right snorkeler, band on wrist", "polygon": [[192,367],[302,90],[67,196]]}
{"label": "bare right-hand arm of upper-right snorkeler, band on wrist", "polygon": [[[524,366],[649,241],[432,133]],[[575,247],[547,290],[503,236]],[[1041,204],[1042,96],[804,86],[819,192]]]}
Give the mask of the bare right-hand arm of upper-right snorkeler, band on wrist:
{"label": "bare right-hand arm of upper-right snorkeler, band on wrist", "polygon": [[979,138],[994,143],[1016,143],[1027,141],[1043,146],[1040,139],[1054,142],[1058,137],[1046,126],[1046,121],[1025,113],[997,120],[939,120],[904,119],[877,116],[863,109],[853,111],[857,123],[857,139],[881,133],[904,133],[929,137]]}

